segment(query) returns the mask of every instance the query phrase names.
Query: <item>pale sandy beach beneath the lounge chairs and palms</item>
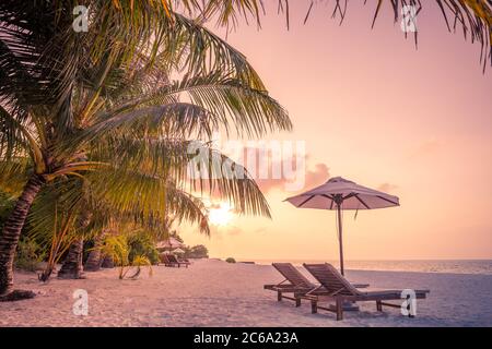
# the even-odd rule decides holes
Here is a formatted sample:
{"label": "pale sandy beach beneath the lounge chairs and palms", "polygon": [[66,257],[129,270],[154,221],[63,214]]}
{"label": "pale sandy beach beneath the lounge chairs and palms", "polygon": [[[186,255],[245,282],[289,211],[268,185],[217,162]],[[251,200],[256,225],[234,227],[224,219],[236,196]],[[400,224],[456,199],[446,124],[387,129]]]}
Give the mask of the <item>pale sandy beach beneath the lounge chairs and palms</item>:
{"label": "pale sandy beach beneath the lounge chairs and palms", "polygon": [[[263,265],[197,261],[188,269],[154,267],[138,280],[119,280],[116,269],[87,273],[87,279],[43,285],[36,275],[16,275],[16,288],[38,292],[35,299],[0,303],[0,326],[492,326],[492,276],[349,270],[352,281],[384,288],[431,289],[419,300],[418,316],[398,309],[375,311],[374,302],[361,312],[311,314],[305,302],[277,302],[263,290],[282,277]],[[89,292],[89,315],[72,313],[75,289]]]}

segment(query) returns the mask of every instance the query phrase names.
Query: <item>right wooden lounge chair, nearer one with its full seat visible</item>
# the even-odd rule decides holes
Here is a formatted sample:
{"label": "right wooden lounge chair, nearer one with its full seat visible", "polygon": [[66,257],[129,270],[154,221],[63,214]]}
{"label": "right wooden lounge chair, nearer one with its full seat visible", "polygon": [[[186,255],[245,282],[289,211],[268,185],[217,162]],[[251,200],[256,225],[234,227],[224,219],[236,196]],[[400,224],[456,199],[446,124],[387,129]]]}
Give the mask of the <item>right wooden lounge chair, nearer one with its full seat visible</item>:
{"label": "right wooden lounge chair, nearer one with its full seat visible", "polygon": [[[303,298],[311,300],[312,312],[317,313],[318,309],[335,312],[337,320],[343,320],[343,302],[375,301],[377,311],[383,311],[383,305],[400,308],[402,290],[373,290],[361,291],[351,285],[331,264],[304,264],[304,267],[319,281],[320,286]],[[417,299],[424,299],[429,290],[414,290]],[[390,300],[399,300],[399,304],[388,303]],[[321,308],[320,301],[335,302],[336,306]]]}

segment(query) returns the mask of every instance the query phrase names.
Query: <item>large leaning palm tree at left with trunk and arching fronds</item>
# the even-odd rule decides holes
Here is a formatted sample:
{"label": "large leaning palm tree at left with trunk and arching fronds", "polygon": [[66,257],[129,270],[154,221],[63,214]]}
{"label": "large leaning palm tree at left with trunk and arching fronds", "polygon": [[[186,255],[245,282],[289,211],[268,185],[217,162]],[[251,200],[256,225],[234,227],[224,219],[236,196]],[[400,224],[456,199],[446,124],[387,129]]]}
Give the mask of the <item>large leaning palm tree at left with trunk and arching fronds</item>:
{"label": "large leaning palm tree at left with trunk and arching fronds", "polygon": [[[0,236],[3,296],[24,221],[47,183],[98,178],[94,190],[99,183],[116,207],[150,217],[190,200],[181,189],[187,139],[218,127],[241,135],[291,128],[246,58],[198,22],[147,1],[138,9],[86,1],[98,14],[92,27],[105,31],[78,34],[69,2],[0,3],[0,173],[28,173]],[[128,22],[139,17],[143,20]],[[183,79],[171,81],[174,72]],[[213,182],[245,213],[269,214],[249,178]]]}

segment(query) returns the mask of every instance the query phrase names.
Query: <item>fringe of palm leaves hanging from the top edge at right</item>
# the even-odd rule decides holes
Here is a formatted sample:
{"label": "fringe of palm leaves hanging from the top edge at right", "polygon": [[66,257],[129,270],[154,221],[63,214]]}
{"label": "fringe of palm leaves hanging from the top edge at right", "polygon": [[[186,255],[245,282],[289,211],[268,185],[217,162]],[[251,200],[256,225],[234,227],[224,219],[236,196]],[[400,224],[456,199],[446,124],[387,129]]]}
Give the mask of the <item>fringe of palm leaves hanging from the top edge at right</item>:
{"label": "fringe of palm leaves hanging from the top edge at right", "polygon": [[[200,21],[215,19],[221,26],[236,28],[242,19],[248,23],[249,19],[261,25],[261,16],[265,14],[263,1],[261,0],[166,0],[167,5],[185,9],[189,15],[196,14]],[[298,2],[298,1],[297,1]],[[314,8],[325,5],[328,0],[315,1],[305,0],[306,14],[304,23],[308,21]],[[364,1],[364,4],[374,5],[374,16],[372,26],[380,13],[383,0]],[[431,4],[432,2],[432,4]],[[288,28],[290,26],[290,0],[278,0],[278,12],[285,15]],[[331,16],[339,17],[341,22],[348,11],[348,0],[335,0],[331,2]],[[465,38],[470,37],[471,41],[481,45],[481,61],[489,60],[492,64],[492,1],[490,0],[391,0],[387,1],[394,12],[394,21],[401,17],[401,9],[405,5],[414,5],[417,12],[425,11],[429,7],[436,4],[449,32],[461,31]],[[325,8],[325,7],[324,7]],[[417,43],[417,33],[414,35]]]}

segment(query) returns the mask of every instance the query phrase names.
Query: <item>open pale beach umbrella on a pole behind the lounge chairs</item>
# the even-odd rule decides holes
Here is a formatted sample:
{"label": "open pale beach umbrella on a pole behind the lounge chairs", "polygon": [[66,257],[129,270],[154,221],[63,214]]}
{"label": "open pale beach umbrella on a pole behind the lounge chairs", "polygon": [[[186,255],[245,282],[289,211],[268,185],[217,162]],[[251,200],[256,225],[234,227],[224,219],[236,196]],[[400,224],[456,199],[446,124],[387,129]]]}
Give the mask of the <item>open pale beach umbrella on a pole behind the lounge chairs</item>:
{"label": "open pale beach umbrella on a pole behind the lounge chairs", "polygon": [[343,275],[342,209],[375,209],[399,206],[399,198],[374,189],[359,185],[341,177],[285,201],[298,208],[336,209],[340,244],[340,272]]}

